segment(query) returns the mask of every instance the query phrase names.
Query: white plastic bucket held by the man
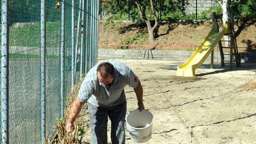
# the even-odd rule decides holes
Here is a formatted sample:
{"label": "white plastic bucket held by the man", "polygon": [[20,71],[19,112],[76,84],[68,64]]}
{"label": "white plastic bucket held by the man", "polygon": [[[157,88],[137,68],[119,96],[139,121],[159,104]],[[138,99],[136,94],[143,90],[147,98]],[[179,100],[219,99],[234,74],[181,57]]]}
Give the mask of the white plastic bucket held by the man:
{"label": "white plastic bucket held by the man", "polygon": [[126,120],[126,131],[129,132],[130,138],[136,143],[144,143],[151,138],[152,124],[154,117],[152,113],[147,110],[141,112],[137,109],[131,111]]}

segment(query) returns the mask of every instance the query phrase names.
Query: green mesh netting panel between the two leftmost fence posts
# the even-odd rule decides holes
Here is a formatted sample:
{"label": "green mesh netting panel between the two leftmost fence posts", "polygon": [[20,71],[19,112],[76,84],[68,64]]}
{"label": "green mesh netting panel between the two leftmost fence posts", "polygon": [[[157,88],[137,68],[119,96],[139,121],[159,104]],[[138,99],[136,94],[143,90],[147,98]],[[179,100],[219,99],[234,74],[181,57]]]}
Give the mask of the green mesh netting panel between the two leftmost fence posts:
{"label": "green mesh netting panel between the two leftmost fence posts", "polygon": [[40,141],[40,1],[10,1],[10,143]]}

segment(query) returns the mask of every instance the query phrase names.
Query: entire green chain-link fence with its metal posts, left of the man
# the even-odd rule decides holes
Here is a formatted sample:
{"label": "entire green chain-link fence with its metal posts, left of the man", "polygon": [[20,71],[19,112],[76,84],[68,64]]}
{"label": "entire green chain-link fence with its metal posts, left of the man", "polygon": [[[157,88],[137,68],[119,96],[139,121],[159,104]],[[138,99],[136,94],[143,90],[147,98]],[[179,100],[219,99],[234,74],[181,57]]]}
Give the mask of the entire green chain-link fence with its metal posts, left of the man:
{"label": "entire green chain-link fence with its metal posts, left of the man", "polygon": [[[64,75],[61,75],[61,64],[64,64],[61,63],[63,3],[65,3],[63,56],[65,66]],[[7,84],[7,88],[1,87],[2,143],[42,143],[42,133],[48,138],[53,136],[56,132],[55,120],[61,118],[63,113],[61,79],[64,78],[63,89],[66,97],[67,89],[72,87],[72,72],[76,83],[80,80],[81,74],[88,72],[97,63],[99,3],[96,0],[85,0],[84,3],[83,5],[82,0],[74,1],[75,20],[72,25],[72,0],[45,1],[46,18],[43,25],[46,30],[46,50],[45,71],[42,72],[42,1],[1,0],[1,61],[2,67],[8,68],[6,71],[3,68],[1,70],[1,86],[3,83]],[[9,17],[6,15],[7,11]],[[72,41],[74,41],[73,48]],[[8,51],[7,54],[5,50]],[[7,62],[3,63],[3,61]],[[5,72],[8,74],[3,75]],[[41,92],[42,73],[45,74],[45,93]],[[42,106],[44,95],[45,105]],[[45,111],[42,111],[44,107]]]}

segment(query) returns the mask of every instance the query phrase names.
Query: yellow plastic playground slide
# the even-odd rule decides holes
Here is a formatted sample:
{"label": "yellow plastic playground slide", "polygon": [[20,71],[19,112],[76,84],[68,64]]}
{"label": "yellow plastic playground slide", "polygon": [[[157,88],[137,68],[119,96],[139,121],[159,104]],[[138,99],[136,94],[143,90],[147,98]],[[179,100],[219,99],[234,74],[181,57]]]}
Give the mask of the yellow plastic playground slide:
{"label": "yellow plastic playground slide", "polygon": [[188,61],[177,68],[177,76],[195,77],[195,69],[200,67],[209,56],[214,47],[218,44],[225,33],[230,33],[229,22],[225,22],[224,29],[218,32],[217,22],[212,23],[211,31],[202,41],[200,46],[190,56]]}

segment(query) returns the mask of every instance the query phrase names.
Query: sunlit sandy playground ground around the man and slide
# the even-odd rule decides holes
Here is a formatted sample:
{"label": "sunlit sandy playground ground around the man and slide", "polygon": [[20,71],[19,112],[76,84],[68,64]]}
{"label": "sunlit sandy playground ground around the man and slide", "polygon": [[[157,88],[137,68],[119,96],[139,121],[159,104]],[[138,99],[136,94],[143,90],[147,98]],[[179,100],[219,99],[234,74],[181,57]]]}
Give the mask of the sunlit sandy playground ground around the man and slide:
{"label": "sunlit sandy playground ground around the man and slide", "polygon": [[[182,62],[108,59],[127,64],[139,77],[144,105],[154,115],[147,144],[256,144],[256,90],[239,88],[253,78],[256,64],[232,70],[204,63],[197,77],[176,77]],[[133,88],[125,88],[127,114],[137,109]],[[108,140],[110,141],[110,121]],[[90,129],[84,142],[91,143]],[[126,132],[126,143],[134,143]]]}

